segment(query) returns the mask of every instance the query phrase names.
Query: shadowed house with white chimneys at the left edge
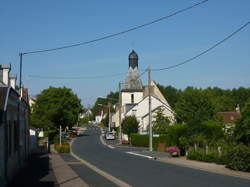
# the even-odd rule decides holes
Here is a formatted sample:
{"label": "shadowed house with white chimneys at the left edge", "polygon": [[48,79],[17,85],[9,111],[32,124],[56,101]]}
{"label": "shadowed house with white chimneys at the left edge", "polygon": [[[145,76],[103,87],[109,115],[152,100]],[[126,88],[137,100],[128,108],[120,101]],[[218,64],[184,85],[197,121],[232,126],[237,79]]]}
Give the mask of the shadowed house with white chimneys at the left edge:
{"label": "shadowed house with white chimneys at the left edge", "polygon": [[10,65],[0,65],[0,186],[11,181],[29,155],[27,90],[20,94],[10,71]]}

